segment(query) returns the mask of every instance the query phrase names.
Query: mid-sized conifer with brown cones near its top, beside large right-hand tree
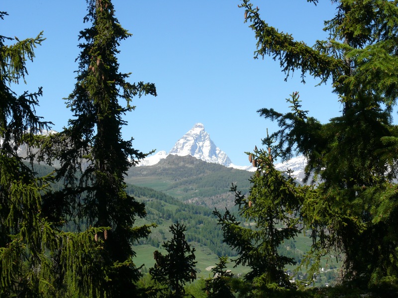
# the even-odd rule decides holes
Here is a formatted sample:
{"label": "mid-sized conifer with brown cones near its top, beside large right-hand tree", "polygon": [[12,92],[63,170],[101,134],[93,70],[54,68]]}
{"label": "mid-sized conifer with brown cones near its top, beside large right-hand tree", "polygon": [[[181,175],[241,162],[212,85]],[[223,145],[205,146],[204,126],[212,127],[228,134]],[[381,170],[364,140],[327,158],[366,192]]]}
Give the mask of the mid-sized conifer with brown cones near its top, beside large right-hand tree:
{"label": "mid-sized conifer with brown cones near its top, beside large right-hand tree", "polygon": [[217,210],[213,213],[222,226],[224,242],[238,252],[238,258],[233,260],[235,266],[251,268],[245,275],[246,281],[261,291],[275,286],[289,288],[292,284],[284,272],[285,266],[296,262],[280,255],[278,247],[284,240],[297,236],[304,190],[310,189],[297,186],[292,177],[275,169],[269,152],[256,147],[249,160],[257,167],[250,179],[249,195],[242,195],[236,185],[231,191],[235,192],[239,215],[253,226],[244,226],[228,210],[225,214]]}

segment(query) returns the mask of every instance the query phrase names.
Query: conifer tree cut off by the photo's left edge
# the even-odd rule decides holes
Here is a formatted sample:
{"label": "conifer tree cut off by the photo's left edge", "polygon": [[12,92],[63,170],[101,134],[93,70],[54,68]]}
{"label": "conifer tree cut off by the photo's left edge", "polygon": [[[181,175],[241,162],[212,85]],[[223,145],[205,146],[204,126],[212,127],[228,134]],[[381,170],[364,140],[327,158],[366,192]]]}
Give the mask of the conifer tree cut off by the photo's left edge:
{"label": "conifer tree cut off by the photo's left edge", "polygon": [[[0,12],[0,18],[6,16]],[[57,231],[41,212],[41,192],[49,177],[36,178],[17,154],[20,144],[49,123],[35,114],[41,87],[17,95],[12,84],[25,81],[25,62],[44,40],[19,40],[0,35],[0,297],[55,297],[52,253]],[[15,41],[12,45],[6,45]]]}

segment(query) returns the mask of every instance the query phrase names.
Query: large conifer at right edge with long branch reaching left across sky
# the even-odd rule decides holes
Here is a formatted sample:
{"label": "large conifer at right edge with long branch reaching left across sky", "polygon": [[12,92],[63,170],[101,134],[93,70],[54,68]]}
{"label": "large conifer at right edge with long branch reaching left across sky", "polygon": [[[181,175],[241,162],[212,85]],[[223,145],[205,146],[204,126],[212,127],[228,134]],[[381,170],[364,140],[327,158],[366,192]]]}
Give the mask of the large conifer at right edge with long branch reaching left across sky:
{"label": "large conifer at right edge with long branch reaching left across sky", "polygon": [[[307,0],[317,3],[317,0]],[[255,32],[255,58],[272,56],[287,74],[300,71],[331,81],[343,106],[341,116],[321,124],[300,110],[298,94],[288,101],[292,113],[272,108],[261,116],[280,130],[273,155],[307,158],[306,177],[318,183],[317,196],[302,202],[303,221],[312,229],[313,256],[342,252],[344,279],[376,285],[398,277],[397,100],[398,1],[336,0],[330,33],[313,47],[279,32],[261,19],[259,8],[242,1]]]}

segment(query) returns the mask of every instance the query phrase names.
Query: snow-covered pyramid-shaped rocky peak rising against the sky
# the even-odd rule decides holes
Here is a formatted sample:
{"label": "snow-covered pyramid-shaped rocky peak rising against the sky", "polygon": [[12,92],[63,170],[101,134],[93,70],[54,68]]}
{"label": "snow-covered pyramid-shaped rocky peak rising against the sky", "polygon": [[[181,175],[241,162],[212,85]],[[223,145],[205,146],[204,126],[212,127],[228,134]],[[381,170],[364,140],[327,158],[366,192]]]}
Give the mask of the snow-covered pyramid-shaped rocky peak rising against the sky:
{"label": "snow-covered pyramid-shaped rocky peak rising against the sky", "polygon": [[198,159],[224,166],[229,166],[232,163],[227,154],[211,141],[210,135],[204,130],[201,123],[195,124],[188,133],[178,140],[169,154],[192,155]]}

